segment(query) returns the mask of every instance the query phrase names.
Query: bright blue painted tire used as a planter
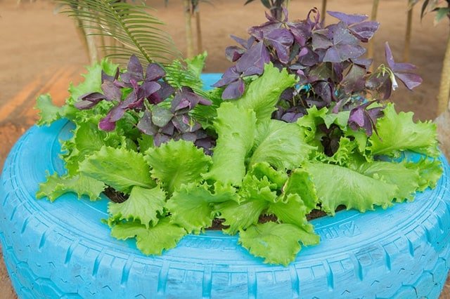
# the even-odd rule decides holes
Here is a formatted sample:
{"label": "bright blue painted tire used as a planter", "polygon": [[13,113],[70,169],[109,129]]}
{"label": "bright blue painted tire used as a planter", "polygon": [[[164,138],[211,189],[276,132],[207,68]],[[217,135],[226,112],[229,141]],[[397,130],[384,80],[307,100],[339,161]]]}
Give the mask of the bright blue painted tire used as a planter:
{"label": "bright blue painted tire used as a planter", "polygon": [[237,237],[188,235],[162,256],[110,237],[108,199],[36,200],[46,171],[63,173],[72,124],[34,126],[0,179],[0,240],[20,298],[438,298],[450,267],[450,168],[410,204],[313,220],[318,246],[288,267],[265,265]]}

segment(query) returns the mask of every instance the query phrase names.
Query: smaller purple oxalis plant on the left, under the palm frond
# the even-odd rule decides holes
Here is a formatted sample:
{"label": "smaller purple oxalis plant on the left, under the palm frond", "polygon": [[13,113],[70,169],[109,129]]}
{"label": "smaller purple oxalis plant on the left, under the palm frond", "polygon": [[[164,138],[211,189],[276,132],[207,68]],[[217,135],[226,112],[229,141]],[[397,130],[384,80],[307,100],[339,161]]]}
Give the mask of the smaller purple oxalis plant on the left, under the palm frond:
{"label": "smaller purple oxalis plant on the left, under the palm frond", "polygon": [[[164,81],[165,70],[156,63],[150,63],[146,72],[139,59],[132,55],[127,71],[109,76],[102,72],[101,90],[103,93],[86,93],[75,103],[78,109],[91,109],[105,100],[114,105],[101,119],[98,127],[103,131],[113,131],[117,121],[127,112],[137,115],[136,127],[153,136],[153,144],[160,146],[169,140],[190,140],[210,153],[214,138],[203,130],[190,112],[196,105],[211,105],[210,100],[202,98],[191,88],[183,86],[176,90]],[[171,98],[171,107],[158,105]]]}

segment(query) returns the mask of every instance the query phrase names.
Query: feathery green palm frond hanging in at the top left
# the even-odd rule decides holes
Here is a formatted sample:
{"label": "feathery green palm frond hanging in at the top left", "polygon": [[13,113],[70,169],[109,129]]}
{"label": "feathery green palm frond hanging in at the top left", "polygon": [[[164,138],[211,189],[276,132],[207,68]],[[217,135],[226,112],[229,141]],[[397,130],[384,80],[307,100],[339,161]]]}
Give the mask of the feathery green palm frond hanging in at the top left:
{"label": "feathery green palm frond hanging in at the top left", "polygon": [[145,4],[117,0],[56,0],[91,35],[115,39],[117,45],[102,45],[108,57],[128,60],[135,54],[142,62],[167,64],[181,56],[163,22],[148,13]]}

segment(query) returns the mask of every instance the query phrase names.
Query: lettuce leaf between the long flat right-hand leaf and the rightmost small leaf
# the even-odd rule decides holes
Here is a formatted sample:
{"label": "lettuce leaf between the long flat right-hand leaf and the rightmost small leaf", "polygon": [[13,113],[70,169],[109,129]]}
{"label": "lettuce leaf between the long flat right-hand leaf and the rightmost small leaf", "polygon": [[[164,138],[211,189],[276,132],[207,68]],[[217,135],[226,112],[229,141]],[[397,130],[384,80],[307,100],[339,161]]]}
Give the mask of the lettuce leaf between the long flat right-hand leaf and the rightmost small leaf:
{"label": "lettuce leaf between the long flat right-hand leaf and the rightmost small leaf", "polygon": [[416,169],[406,168],[403,164],[375,161],[373,163],[361,164],[357,171],[377,180],[383,180],[398,187],[395,199],[413,200],[418,190],[419,172]]}

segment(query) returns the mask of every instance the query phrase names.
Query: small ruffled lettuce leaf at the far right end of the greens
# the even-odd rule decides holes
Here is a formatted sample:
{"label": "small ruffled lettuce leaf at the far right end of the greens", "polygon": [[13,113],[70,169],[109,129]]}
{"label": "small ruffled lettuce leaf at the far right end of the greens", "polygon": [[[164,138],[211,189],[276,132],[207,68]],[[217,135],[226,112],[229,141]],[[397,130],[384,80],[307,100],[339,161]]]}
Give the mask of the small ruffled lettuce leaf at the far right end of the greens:
{"label": "small ruffled lettuce leaf at the far right end of the greens", "polygon": [[418,171],[418,191],[424,191],[428,187],[435,188],[443,172],[442,163],[438,159],[422,158],[419,161],[406,161],[404,166]]}

